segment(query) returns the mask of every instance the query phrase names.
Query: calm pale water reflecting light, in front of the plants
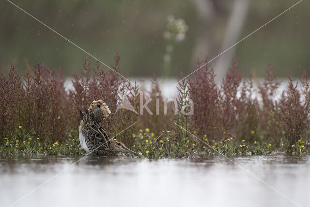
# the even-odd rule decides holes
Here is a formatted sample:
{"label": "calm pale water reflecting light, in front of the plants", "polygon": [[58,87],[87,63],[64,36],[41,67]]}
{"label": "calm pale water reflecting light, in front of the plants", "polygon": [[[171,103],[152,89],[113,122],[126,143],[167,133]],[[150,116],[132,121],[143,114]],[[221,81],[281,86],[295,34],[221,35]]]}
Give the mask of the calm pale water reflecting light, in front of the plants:
{"label": "calm pale water reflecting light, in front of the plants", "polygon": [[[82,157],[0,157],[0,206],[9,206]],[[310,206],[310,156],[231,157],[301,206]],[[296,206],[222,156],[87,156],[20,200],[41,206]]]}

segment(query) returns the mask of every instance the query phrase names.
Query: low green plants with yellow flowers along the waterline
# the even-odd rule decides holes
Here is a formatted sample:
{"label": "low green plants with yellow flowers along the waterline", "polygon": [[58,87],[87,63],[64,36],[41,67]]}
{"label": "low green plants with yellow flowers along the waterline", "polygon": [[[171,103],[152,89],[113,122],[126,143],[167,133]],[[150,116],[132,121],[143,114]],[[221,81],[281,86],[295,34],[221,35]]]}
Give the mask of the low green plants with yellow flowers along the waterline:
{"label": "low green plants with yellow flowers along the waterline", "polygon": [[[194,132],[195,133],[195,132]],[[227,138],[216,142],[206,136],[199,141],[195,136],[189,136],[181,140],[176,139],[174,132],[162,131],[159,136],[155,136],[148,128],[140,129],[136,134],[135,144],[128,146],[140,154],[139,157],[148,158],[186,158],[202,155],[273,155],[286,152],[289,142],[280,140],[279,146],[265,142],[263,139],[249,142],[238,141]],[[197,136],[199,137],[199,136]],[[310,153],[309,147],[305,147],[305,142],[298,140],[291,146],[292,155],[302,155]],[[39,137],[25,134],[22,128],[16,128],[15,136],[8,136],[4,143],[0,145],[2,155],[87,155],[81,148],[78,140],[78,133],[72,132],[62,142],[50,143]]]}

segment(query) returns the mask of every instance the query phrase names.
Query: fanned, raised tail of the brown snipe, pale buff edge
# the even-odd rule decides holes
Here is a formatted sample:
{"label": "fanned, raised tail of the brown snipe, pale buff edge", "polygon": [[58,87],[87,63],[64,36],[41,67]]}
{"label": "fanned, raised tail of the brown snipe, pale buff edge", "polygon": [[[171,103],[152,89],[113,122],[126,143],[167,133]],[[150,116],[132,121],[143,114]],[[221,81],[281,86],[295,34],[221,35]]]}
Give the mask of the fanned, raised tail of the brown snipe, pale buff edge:
{"label": "fanned, raised tail of the brown snipe, pale buff edge", "polygon": [[93,101],[88,109],[88,112],[93,121],[96,123],[100,123],[111,113],[109,107],[102,100]]}

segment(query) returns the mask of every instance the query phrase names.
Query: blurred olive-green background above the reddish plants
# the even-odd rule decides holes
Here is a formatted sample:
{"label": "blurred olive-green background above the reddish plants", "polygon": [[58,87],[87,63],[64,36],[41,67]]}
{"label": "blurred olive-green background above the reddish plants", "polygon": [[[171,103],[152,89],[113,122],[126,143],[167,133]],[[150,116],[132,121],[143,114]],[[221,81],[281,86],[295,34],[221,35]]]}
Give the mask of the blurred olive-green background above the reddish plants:
{"label": "blurred olive-green background above the reddish plants", "polygon": [[[131,77],[160,77],[167,70],[167,16],[184,19],[185,39],[173,42],[169,77],[188,74],[197,58],[223,51],[230,37],[228,24],[234,0],[12,0],[31,15],[106,64],[121,54],[121,73]],[[235,42],[296,3],[296,0],[249,0]],[[246,74],[264,75],[274,64],[279,76],[310,73],[310,2],[304,0],[233,48],[233,57]],[[236,12],[238,14],[238,12]],[[10,62],[20,71],[36,60],[70,76],[79,70],[83,51],[40,24],[10,2],[0,2],[0,70]],[[237,18],[238,20],[238,18]],[[225,48],[225,47],[224,47]],[[231,57],[229,57],[231,58]],[[91,62],[93,58],[89,57]],[[215,60],[216,61],[216,60]],[[214,61],[214,63],[215,63]],[[226,60],[227,61],[227,60]],[[213,63],[213,62],[212,62]],[[226,69],[226,68],[225,68]]]}

